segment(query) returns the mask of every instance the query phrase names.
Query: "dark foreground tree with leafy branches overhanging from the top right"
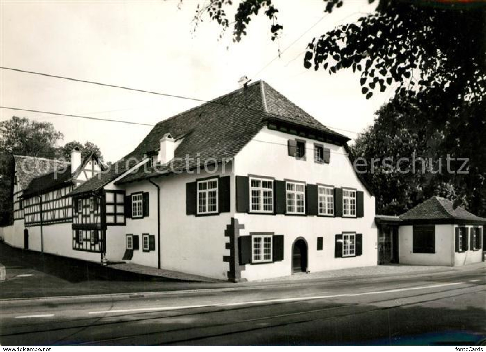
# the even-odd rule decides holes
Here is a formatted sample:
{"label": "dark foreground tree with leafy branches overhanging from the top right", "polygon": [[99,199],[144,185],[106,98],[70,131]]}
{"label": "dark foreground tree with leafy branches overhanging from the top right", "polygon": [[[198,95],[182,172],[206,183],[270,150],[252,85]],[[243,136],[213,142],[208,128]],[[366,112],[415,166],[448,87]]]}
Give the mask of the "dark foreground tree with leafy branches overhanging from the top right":
{"label": "dark foreground tree with leafy branches overhanging from the top right", "polygon": [[[344,1],[324,0],[331,13]],[[314,38],[307,46],[303,65],[335,74],[342,69],[360,72],[359,83],[366,99],[377,89],[395,88],[397,108],[417,108],[418,124],[425,126],[424,140],[435,134],[444,138],[434,145],[437,154],[469,159],[467,175],[454,175],[456,205],[471,194],[486,194],[486,2],[368,0],[377,3],[374,13],[354,23],[337,26]],[[253,16],[270,11],[272,34],[278,9],[271,0],[241,0],[235,21],[226,19],[229,0],[210,0],[198,9],[224,30],[233,26],[239,42]],[[267,15],[268,16],[268,15]],[[277,26],[276,26],[277,25]],[[274,30],[276,30],[274,32]],[[274,37],[272,37],[273,39]],[[406,107],[408,105],[408,107]],[[483,209],[484,200],[473,197],[471,210]],[[464,204],[464,203],[463,203]]]}

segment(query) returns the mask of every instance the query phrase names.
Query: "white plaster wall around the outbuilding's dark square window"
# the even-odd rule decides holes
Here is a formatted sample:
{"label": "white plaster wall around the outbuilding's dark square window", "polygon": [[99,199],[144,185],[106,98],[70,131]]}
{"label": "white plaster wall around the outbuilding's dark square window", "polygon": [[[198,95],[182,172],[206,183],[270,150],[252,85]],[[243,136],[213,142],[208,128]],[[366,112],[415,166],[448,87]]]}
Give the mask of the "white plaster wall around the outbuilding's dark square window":
{"label": "white plaster wall around the outbuilding's dark square window", "polygon": [[453,225],[435,225],[435,253],[414,253],[413,226],[399,226],[399,263],[453,266],[453,228]]}

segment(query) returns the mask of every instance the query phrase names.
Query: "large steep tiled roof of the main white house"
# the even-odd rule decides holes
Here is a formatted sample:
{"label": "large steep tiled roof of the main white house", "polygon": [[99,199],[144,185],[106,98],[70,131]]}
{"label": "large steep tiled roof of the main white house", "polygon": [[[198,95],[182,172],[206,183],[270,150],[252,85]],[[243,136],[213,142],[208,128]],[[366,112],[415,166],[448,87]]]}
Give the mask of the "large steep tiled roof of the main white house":
{"label": "large steep tiled roof of the main white house", "polygon": [[117,162],[118,171],[112,165],[101,177],[88,180],[71,194],[102,188],[127,170],[127,159],[142,160],[143,154],[158,150],[160,138],[166,133],[176,140],[183,138],[175,151],[175,158],[189,156],[194,160],[189,165],[185,160],[174,162],[170,170],[158,166],[157,171],[152,168],[145,172],[140,168],[138,172],[125,176],[121,182],[138,181],[159,175],[161,171],[194,168],[198,166],[197,159],[201,163],[208,159],[217,162],[231,159],[266,125],[267,120],[274,118],[309,127],[343,141],[349,139],[322,125],[270,85],[258,81],[157,123],[134,151]]}

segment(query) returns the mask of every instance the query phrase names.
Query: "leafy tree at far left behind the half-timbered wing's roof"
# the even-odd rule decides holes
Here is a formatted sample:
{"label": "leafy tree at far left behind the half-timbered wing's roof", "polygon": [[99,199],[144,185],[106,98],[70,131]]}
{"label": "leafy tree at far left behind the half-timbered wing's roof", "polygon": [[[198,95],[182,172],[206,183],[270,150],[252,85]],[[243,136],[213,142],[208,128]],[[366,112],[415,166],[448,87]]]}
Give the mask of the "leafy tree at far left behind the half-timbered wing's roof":
{"label": "leafy tree at far left behind the half-timbered wing's roof", "polygon": [[55,158],[57,142],[63,134],[50,122],[31,121],[27,117],[12,117],[1,121],[0,151],[12,154]]}

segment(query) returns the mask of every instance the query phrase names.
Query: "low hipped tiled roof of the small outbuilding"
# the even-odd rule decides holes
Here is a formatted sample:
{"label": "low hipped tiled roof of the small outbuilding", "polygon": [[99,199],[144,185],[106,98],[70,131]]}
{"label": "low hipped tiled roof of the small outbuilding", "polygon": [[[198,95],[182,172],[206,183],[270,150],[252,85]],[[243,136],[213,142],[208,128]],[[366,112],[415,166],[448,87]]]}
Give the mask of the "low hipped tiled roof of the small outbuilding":
{"label": "low hipped tiled roof of the small outbuilding", "polygon": [[400,215],[401,220],[486,220],[469,213],[458,206],[454,209],[451,201],[441,197],[431,197],[408,212]]}

